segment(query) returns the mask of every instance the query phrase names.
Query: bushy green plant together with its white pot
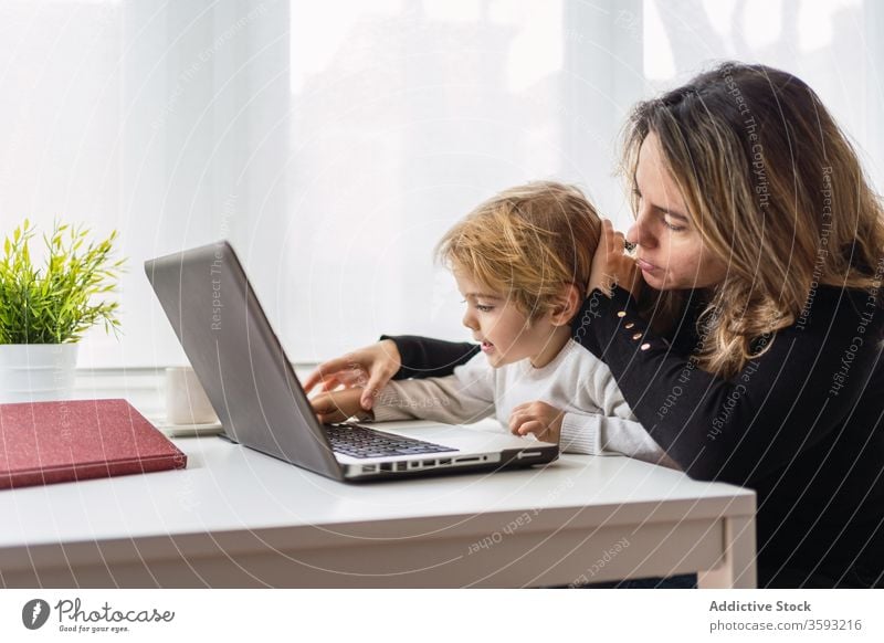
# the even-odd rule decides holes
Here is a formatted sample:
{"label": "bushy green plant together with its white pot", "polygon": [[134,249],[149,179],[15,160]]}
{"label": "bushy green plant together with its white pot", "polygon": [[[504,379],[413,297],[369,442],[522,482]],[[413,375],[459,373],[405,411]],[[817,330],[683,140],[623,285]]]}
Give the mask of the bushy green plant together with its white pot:
{"label": "bushy green plant together with its white pot", "polygon": [[25,219],[3,241],[0,260],[0,402],[71,397],[78,341],[104,324],[118,333],[114,292],[125,260],[113,259],[114,231],[90,242],[90,230],[55,223],[43,235],[45,260],[35,266]]}

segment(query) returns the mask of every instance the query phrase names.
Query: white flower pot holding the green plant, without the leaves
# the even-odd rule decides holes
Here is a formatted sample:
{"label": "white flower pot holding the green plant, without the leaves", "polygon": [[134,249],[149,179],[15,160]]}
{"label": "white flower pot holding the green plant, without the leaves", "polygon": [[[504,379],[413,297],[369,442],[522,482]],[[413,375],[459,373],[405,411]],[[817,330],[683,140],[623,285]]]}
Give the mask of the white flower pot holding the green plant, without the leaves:
{"label": "white flower pot holding the green plant, without the leaves", "polygon": [[78,344],[0,345],[0,402],[70,400]]}

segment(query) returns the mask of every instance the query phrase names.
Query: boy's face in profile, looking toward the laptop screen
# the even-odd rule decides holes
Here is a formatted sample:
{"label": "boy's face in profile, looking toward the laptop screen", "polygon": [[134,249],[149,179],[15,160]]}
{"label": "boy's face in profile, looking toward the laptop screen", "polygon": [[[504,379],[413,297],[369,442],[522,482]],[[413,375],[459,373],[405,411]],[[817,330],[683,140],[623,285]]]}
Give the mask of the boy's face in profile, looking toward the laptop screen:
{"label": "boy's face in profile, looking toward the laptop screen", "polygon": [[[492,367],[526,358],[535,365],[547,361],[544,356],[554,348],[550,340],[557,328],[548,314],[535,318],[529,326],[528,316],[505,293],[491,292],[461,271],[455,271],[454,278],[466,303],[463,325],[473,331],[473,339],[482,342],[482,352]],[[555,347],[555,352],[559,348]]]}

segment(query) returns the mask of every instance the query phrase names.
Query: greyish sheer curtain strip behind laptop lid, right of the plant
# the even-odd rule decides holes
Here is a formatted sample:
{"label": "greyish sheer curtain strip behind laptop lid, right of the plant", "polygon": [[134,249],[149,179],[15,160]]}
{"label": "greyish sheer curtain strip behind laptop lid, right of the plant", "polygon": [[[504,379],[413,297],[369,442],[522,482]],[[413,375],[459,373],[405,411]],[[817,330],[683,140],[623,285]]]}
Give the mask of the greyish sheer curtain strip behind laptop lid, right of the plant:
{"label": "greyish sheer curtain strip behind laptop lid, right of the plant", "polygon": [[[288,7],[138,0],[125,3],[124,19],[123,211],[134,265],[123,363],[164,365],[182,357],[144,259],[227,238],[256,283],[273,287],[277,278],[277,231],[287,215]],[[280,302],[265,299],[277,317]]]}

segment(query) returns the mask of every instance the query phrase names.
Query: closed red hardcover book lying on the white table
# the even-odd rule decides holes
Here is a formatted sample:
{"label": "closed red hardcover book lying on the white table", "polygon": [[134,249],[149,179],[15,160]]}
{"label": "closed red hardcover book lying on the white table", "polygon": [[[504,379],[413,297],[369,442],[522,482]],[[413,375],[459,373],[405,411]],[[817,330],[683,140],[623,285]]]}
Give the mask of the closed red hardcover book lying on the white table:
{"label": "closed red hardcover book lying on the white table", "polygon": [[0,404],[0,489],[185,466],[126,400]]}

